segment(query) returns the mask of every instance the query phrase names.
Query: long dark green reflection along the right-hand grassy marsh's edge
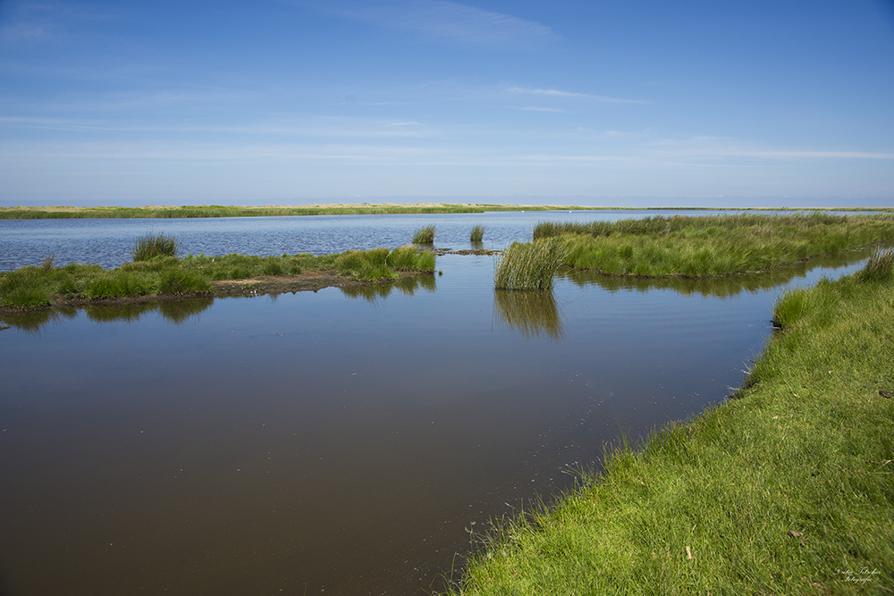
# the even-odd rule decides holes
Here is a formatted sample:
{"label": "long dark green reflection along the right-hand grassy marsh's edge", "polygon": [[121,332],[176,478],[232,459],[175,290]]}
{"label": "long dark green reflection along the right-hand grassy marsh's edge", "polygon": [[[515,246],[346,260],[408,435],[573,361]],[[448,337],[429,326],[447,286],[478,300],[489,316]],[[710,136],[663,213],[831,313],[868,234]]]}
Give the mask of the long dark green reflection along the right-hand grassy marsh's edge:
{"label": "long dark green reflection along the right-hand grassy marsh's edge", "polygon": [[853,250],[836,255],[817,256],[804,263],[790,264],[763,273],[747,273],[702,279],[687,278],[637,278],[603,275],[592,271],[565,269],[557,277],[567,279],[578,287],[596,285],[603,290],[675,290],[684,296],[701,294],[704,297],[728,298],[742,292],[772,290],[795,278],[806,277],[814,269],[839,269],[859,263],[872,254],[870,250]]}

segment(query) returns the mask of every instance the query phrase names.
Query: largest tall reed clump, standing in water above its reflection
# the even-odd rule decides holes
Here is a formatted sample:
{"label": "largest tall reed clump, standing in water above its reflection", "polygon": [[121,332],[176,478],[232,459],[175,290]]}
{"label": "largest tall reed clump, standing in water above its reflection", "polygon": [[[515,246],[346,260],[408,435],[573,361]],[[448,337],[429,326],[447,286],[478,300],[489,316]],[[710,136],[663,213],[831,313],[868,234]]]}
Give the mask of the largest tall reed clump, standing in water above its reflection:
{"label": "largest tall reed clump, standing in water above its reflection", "polygon": [[552,290],[552,277],[566,256],[558,239],[513,242],[493,274],[497,290]]}

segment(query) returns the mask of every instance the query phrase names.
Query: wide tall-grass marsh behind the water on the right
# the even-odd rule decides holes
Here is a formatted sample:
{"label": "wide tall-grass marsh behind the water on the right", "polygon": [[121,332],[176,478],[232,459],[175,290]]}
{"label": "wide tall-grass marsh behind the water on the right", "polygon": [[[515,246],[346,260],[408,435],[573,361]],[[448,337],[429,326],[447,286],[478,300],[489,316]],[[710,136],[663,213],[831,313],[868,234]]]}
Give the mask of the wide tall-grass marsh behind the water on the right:
{"label": "wide tall-grass marsh behind the water on the right", "polygon": [[758,272],[894,241],[894,214],[740,214],[620,222],[543,222],[535,241],[561,239],[564,264],[610,275],[707,277]]}

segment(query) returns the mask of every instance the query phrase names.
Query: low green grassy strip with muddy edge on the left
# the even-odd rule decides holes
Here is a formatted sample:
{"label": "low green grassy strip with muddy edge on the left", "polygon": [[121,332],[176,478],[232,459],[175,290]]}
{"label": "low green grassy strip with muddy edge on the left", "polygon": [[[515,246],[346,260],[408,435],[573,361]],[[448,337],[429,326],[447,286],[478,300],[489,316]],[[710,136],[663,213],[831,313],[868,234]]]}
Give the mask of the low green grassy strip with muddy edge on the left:
{"label": "low green grassy strip with muddy edge on the left", "polygon": [[[335,270],[350,280],[379,281],[400,277],[399,271],[434,272],[434,253],[412,246],[349,250],[341,255],[307,253],[283,256],[186,256],[177,258],[164,237],[139,239],[134,262],[112,270],[99,265],[55,266],[55,257],[44,264],[0,274],[0,308],[27,310],[59,302],[89,302],[163,294],[201,294],[215,290],[211,281],[245,280],[257,276],[289,276],[304,272]],[[144,251],[163,254],[139,260]]]}

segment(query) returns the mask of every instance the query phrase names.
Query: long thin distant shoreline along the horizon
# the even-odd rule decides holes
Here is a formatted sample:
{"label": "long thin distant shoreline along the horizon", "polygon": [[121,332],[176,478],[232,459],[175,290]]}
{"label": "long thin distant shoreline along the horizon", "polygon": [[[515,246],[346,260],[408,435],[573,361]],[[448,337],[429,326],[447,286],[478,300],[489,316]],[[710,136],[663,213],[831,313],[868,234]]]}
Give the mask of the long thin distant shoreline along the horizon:
{"label": "long thin distant shoreline along the horizon", "polygon": [[489,203],[327,203],[304,206],[12,206],[0,219],[132,219],[198,217],[284,217],[296,215],[475,214],[488,211],[864,211],[894,212],[894,207],[686,207],[502,205]]}

